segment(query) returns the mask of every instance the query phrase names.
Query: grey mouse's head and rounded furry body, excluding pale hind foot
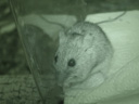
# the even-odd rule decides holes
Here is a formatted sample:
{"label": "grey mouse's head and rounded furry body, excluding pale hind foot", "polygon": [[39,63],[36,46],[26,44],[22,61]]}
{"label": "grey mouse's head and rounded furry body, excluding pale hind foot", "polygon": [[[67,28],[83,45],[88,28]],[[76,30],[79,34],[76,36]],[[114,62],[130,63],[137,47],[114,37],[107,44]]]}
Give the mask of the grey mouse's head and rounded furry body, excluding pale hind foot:
{"label": "grey mouse's head and rounded furry body, excluding pale hind foot", "polygon": [[[84,82],[112,55],[112,47],[102,29],[88,22],[77,23],[60,32],[54,57],[58,84],[72,87]],[[103,67],[102,67],[103,68]]]}

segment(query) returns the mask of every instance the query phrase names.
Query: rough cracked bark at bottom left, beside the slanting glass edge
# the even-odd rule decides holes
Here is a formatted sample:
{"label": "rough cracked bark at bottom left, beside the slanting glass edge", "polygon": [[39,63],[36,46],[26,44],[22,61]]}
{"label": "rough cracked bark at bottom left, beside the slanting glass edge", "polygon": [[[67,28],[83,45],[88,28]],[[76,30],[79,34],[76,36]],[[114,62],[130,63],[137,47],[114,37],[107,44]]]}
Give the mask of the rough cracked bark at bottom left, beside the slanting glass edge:
{"label": "rough cracked bark at bottom left, beside the slanting glass edge", "polygon": [[33,76],[0,76],[0,104],[43,104]]}

